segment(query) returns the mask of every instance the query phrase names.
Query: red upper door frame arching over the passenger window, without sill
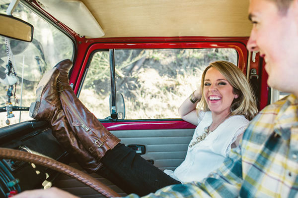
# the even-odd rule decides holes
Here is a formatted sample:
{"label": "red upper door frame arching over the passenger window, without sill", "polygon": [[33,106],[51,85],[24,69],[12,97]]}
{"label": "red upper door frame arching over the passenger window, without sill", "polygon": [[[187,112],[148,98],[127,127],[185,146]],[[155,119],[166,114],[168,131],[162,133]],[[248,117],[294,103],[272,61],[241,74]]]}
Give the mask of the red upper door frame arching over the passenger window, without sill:
{"label": "red upper door frame arching over the passenger window, without sill", "polygon": [[[147,40],[145,40],[147,39]],[[77,54],[74,63],[74,69],[70,78],[70,83],[74,84],[74,92],[77,94],[80,86],[80,82],[83,78],[84,68],[87,66],[87,62],[90,55],[94,50],[98,49],[192,49],[192,48],[232,48],[238,53],[238,65],[244,74],[247,69],[247,49],[245,47],[248,38],[232,39],[232,38],[205,38],[205,37],[193,37],[186,38],[129,38],[129,42],[117,42],[118,39],[97,39],[97,40],[85,40],[79,41],[77,45]],[[234,40],[234,41],[233,41]]]}

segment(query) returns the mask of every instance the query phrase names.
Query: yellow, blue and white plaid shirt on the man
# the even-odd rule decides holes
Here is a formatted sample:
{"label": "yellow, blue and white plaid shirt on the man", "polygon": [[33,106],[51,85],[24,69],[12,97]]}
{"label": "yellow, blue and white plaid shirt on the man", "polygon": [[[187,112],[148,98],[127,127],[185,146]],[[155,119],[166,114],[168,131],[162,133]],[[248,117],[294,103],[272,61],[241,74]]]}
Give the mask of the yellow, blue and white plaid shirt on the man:
{"label": "yellow, blue and white plaid shirt on the man", "polygon": [[251,121],[241,147],[232,149],[208,178],[168,186],[146,197],[298,198],[297,175],[298,99],[290,95]]}

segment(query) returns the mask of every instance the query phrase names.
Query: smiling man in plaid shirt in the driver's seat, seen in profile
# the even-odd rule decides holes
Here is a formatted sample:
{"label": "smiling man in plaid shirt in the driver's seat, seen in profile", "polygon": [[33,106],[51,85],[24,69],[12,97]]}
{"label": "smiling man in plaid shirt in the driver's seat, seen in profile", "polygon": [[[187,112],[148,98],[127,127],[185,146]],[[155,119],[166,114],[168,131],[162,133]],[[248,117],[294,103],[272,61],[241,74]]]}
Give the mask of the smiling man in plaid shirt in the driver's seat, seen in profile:
{"label": "smiling man in plaid shirt in the driver's seat, seen in profile", "polygon": [[[251,0],[249,19],[253,29],[247,48],[265,59],[268,85],[291,95],[263,109],[245,131],[241,147],[208,178],[148,197],[298,197],[298,0]],[[15,198],[72,196],[58,189],[45,192]]]}

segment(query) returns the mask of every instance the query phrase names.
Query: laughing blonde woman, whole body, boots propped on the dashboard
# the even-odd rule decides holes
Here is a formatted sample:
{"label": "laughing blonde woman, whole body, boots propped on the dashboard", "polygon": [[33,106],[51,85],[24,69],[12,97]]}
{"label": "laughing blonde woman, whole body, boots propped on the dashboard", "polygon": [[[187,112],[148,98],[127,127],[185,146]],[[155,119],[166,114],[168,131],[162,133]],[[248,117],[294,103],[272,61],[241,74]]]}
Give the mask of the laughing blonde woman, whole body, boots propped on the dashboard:
{"label": "laughing blonde woman, whole body, boots propped on the dashboard", "polygon": [[[175,172],[165,174],[120,144],[77,99],[68,81],[71,67],[72,62],[64,60],[43,77],[37,100],[30,106],[31,117],[50,121],[53,135],[85,170],[102,175],[128,194],[143,196],[164,186],[204,178],[222,163],[231,144],[238,144],[236,138],[257,113],[243,73],[226,61],[211,63],[202,77],[204,97],[197,90],[179,108],[183,119],[198,125],[186,159]],[[197,113],[199,100],[203,110]],[[205,161],[199,163],[200,159]]]}

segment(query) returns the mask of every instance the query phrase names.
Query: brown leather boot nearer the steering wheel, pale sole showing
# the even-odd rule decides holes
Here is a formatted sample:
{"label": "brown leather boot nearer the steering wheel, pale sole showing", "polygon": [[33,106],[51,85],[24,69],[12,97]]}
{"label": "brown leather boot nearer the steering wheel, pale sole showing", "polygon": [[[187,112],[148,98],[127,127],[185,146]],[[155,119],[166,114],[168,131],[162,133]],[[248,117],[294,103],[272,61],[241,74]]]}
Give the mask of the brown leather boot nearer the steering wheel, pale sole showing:
{"label": "brown leather boot nearer the steering wheel, pale sole showing", "polygon": [[[60,64],[63,62],[58,63]],[[59,70],[55,67],[43,76],[36,90],[36,101],[31,103],[29,114],[34,119],[49,121],[58,142],[87,172],[95,172],[101,167],[101,163],[76,140],[61,107],[56,86],[58,76]]]}

